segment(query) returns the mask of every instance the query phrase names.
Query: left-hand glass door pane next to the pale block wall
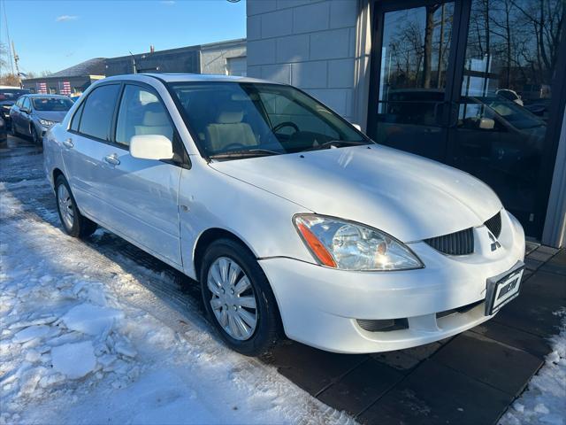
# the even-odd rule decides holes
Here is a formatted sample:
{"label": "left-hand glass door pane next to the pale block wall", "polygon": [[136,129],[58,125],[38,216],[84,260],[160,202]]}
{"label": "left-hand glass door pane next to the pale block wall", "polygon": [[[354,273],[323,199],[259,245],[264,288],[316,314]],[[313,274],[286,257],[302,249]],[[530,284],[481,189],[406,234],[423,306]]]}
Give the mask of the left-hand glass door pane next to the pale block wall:
{"label": "left-hand glass door pane next to the pale block wall", "polygon": [[383,12],[375,139],[444,160],[454,3]]}

